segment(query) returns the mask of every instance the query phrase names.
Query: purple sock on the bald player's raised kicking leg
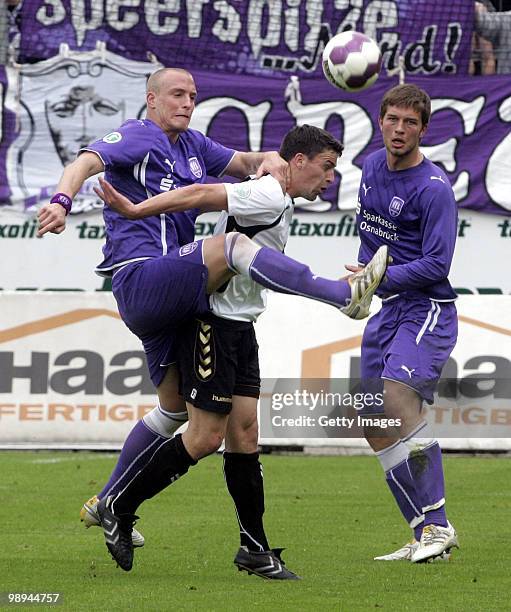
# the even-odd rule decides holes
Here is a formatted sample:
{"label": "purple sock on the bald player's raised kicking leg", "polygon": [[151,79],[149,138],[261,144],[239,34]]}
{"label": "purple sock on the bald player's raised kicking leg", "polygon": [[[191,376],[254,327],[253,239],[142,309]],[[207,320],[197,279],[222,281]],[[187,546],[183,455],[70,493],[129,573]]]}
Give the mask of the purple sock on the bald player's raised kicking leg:
{"label": "purple sock on the bald player's raised kicking leg", "polygon": [[268,247],[262,247],[250,265],[250,276],[279,293],[302,295],[341,308],[351,300],[347,281],[316,276],[304,264]]}

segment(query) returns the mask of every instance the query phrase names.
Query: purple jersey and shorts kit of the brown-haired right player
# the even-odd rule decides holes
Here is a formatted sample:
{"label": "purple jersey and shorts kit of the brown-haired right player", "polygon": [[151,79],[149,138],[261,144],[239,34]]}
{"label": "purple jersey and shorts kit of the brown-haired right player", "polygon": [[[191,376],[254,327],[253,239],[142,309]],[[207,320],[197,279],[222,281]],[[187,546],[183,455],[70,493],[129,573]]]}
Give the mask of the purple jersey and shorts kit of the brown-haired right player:
{"label": "purple jersey and shorts kit of the brown-haired right player", "polygon": [[447,279],[457,206],[448,178],[427,159],[392,172],[385,149],[376,151],[364,163],[357,226],[361,263],[383,244],[393,259],[378,289],[393,297],[362,339],[364,387],[381,390],[381,379],[396,380],[431,402],[457,338],[456,293]]}

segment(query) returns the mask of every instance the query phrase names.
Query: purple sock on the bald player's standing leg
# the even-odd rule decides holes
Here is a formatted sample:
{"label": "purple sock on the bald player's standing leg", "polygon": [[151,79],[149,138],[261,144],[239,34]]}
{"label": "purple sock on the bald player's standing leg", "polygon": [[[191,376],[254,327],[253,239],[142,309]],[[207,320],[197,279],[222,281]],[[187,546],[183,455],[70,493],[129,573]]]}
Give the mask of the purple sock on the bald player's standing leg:
{"label": "purple sock on the bald player's standing leg", "polygon": [[118,493],[151,459],[154,452],[167,438],[151,431],[143,421],[139,421],[128,434],[108,482],[98,494]]}

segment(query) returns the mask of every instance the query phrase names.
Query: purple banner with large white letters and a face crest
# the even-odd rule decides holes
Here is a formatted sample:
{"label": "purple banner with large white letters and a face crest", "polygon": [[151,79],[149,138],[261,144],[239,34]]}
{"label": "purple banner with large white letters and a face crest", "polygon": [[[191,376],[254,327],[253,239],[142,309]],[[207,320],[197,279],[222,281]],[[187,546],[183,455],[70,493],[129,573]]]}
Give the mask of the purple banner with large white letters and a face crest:
{"label": "purple banner with large white letters and a face crest", "polygon": [[[144,113],[147,74],[158,64],[128,60],[99,47],[63,53],[7,70],[0,149],[2,204],[26,210],[47,200],[77,150]],[[309,123],[345,145],[336,181],[315,211],[355,208],[361,167],[382,145],[377,117],[383,78],[350,94],[324,78],[288,79],[194,71],[199,98],[195,127],[239,150],[278,149],[287,130]],[[511,81],[494,77],[414,77],[432,97],[423,151],[440,163],[461,207],[511,212]],[[89,183],[73,212],[99,206]]]}

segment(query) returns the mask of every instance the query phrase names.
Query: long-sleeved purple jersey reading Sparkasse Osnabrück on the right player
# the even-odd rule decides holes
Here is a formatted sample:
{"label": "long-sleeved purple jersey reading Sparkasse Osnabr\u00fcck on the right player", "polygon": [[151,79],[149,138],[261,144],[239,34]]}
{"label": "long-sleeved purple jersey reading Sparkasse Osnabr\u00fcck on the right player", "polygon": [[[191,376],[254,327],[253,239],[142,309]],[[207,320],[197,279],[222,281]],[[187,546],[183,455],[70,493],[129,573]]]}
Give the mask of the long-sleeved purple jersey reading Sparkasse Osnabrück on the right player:
{"label": "long-sleeved purple jersey reading Sparkasse Osnabr\u00fcck on the right player", "polygon": [[357,208],[359,261],[389,246],[393,263],[379,294],[405,291],[438,301],[456,299],[447,275],[457,233],[457,206],[449,179],[424,158],[413,168],[390,171],[385,149],[364,162]]}

